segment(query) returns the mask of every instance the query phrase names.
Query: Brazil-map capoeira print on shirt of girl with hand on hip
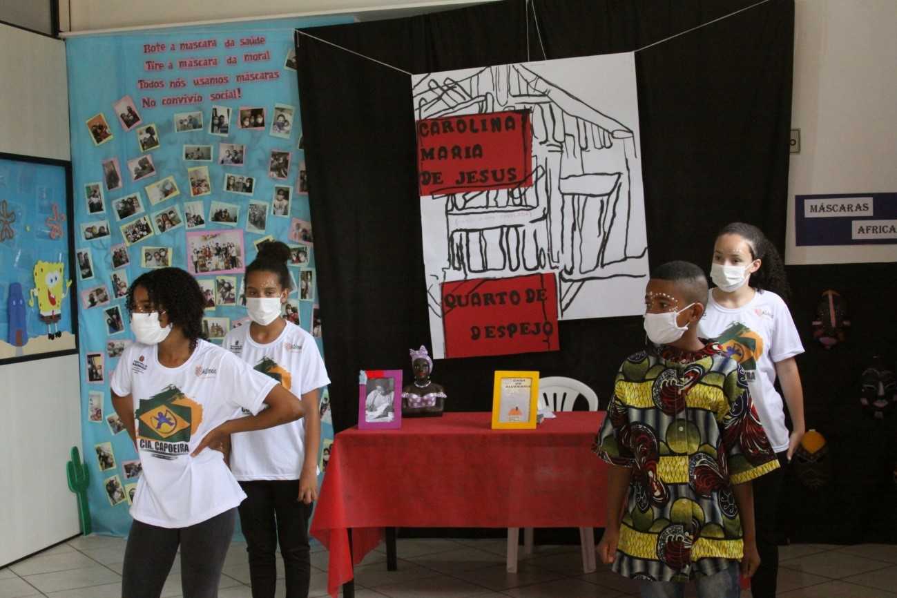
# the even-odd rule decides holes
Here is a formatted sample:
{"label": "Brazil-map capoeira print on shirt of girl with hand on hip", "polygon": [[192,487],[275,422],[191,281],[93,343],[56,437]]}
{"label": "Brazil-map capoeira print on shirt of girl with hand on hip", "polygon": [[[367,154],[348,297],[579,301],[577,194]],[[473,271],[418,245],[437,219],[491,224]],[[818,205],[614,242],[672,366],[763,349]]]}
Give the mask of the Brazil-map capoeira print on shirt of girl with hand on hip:
{"label": "Brazil-map capoeira print on shirt of girl with hand on hip", "polygon": [[203,420],[203,407],[170,385],[141,400],[135,416],[138,446],[153,456],[173,459],[190,452],[187,443]]}

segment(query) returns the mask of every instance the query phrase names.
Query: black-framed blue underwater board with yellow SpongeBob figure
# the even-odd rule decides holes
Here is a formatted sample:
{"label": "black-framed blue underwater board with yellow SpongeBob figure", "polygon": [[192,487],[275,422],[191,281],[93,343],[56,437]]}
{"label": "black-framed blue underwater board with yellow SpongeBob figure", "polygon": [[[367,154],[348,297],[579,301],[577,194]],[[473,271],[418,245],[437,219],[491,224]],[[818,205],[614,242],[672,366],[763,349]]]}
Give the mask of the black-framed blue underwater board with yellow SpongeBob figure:
{"label": "black-framed blue underwater board with yellow SpongeBob figure", "polygon": [[0,153],[0,364],[74,353],[71,166]]}

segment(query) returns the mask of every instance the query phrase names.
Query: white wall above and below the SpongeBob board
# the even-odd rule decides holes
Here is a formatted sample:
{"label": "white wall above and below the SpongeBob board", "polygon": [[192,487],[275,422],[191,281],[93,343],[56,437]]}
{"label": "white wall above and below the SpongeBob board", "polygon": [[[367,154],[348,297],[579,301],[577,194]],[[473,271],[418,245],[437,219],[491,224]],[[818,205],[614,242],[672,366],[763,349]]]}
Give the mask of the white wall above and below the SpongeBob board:
{"label": "white wall above and below the SpongeBob board", "polygon": [[[0,152],[69,160],[63,42],[0,25],[0,56]],[[77,355],[0,366],[0,567],[79,532],[78,388]]]}

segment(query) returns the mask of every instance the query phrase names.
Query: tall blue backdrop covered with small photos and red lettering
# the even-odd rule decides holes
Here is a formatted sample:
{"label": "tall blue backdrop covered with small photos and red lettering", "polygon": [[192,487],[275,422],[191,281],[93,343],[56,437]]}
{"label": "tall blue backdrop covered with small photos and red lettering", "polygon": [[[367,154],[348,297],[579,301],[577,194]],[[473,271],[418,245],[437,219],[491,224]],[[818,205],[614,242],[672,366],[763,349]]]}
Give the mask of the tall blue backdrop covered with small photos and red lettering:
{"label": "tall blue backdrop covered with small photos and red lettering", "polygon": [[[205,332],[220,343],[248,320],[239,290],[257,247],[283,241],[295,281],[284,317],[323,353],[293,31],[349,21],[66,40],[74,243],[86,264],[77,280],[83,454],[97,533],[127,533],[141,474],[109,395],[109,377],[134,338],[126,290],[141,273],[169,265],[192,273],[208,298]],[[324,412],[326,389],[321,404]],[[329,412],[321,438],[324,446],[333,438]]]}

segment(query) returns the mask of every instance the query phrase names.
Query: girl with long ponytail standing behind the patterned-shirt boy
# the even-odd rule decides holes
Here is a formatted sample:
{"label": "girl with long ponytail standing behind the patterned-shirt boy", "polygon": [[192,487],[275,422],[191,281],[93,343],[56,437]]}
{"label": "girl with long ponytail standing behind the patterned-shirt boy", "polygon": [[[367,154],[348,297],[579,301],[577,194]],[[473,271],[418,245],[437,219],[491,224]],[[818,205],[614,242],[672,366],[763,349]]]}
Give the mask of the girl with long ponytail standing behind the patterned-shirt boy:
{"label": "girl with long ponytail standing behind the patterned-shirt boy", "polygon": [[[719,231],[710,279],[717,286],[710,289],[698,332],[719,342],[745,369],[753,403],[784,467],[805,431],[804,391],[795,362],[804,347],[782,299],[788,297],[785,267],[760,229],[733,222]],[[775,388],[777,377],[782,394]],[[785,424],[785,405],[791,418],[790,432]],[[776,513],[784,471],[779,468],[753,481],[760,552],[760,568],[751,580],[755,598],[776,594]]]}

